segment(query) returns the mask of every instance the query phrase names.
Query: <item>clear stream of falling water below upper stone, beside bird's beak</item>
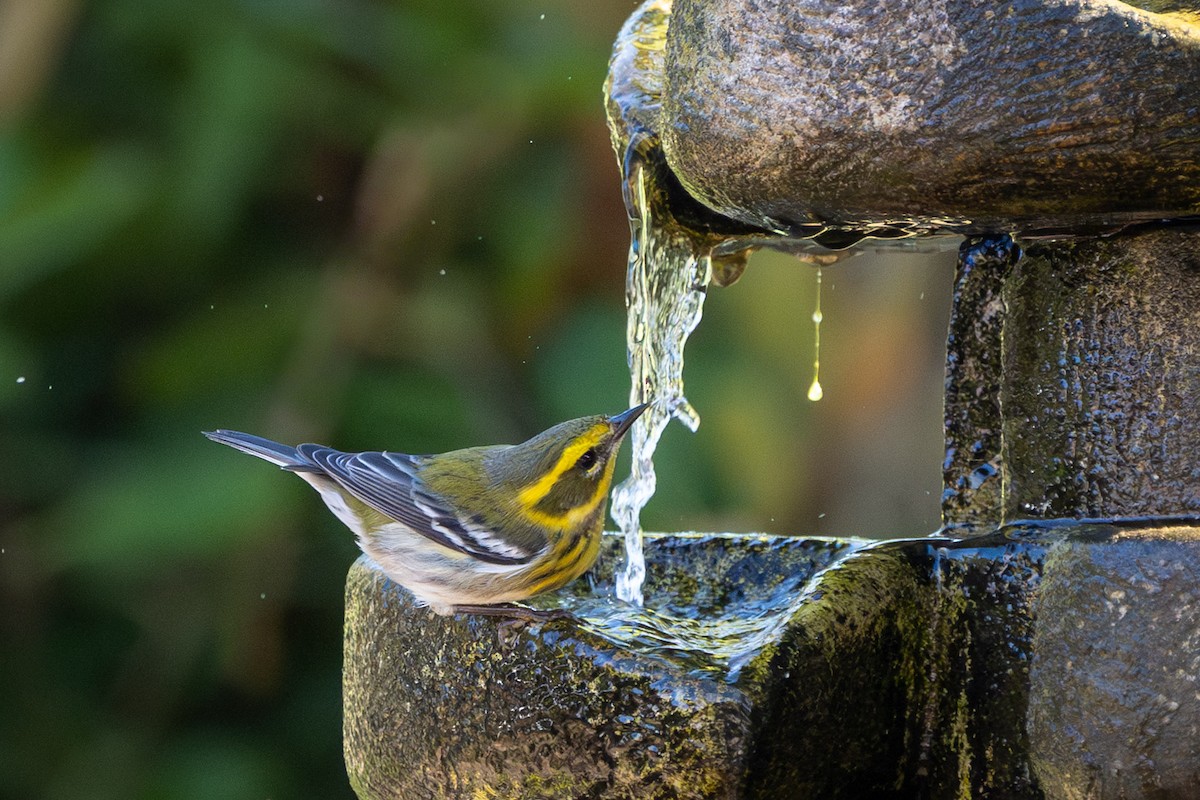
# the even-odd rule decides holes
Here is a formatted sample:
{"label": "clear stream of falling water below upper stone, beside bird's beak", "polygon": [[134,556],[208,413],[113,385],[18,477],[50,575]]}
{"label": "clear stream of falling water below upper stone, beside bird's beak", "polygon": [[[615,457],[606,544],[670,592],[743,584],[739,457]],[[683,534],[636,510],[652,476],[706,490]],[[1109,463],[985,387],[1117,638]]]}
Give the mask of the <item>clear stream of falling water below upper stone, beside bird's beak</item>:
{"label": "clear stream of falling water below upper stone, beside bird's beak", "polygon": [[654,451],[671,417],[695,431],[700,415],[683,393],[683,348],[700,324],[713,275],[710,249],[655,224],[646,164],[631,145],[625,160],[629,211],[629,272],[625,283],[630,405],[652,405],[630,432],[632,471],[613,491],[612,518],[625,537],[626,564],[617,576],[617,596],[642,604],[646,559],[642,509],[654,495]]}

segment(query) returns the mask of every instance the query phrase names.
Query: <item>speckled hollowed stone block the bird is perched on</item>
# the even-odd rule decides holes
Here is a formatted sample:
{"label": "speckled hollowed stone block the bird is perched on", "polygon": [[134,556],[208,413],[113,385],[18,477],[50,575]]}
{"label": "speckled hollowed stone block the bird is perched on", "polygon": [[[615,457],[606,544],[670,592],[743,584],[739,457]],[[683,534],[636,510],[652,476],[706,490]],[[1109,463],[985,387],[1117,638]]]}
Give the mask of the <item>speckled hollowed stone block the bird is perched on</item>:
{"label": "speckled hollowed stone block the bird is perched on", "polygon": [[[690,609],[684,628],[743,603],[769,601],[778,614],[846,548],[655,540],[647,593],[656,614]],[[606,553],[614,558],[616,537]],[[437,618],[360,559],[347,582],[343,670],[352,784],[361,798],[743,796],[756,668],[731,680],[728,662],[658,638],[653,622]]]}

